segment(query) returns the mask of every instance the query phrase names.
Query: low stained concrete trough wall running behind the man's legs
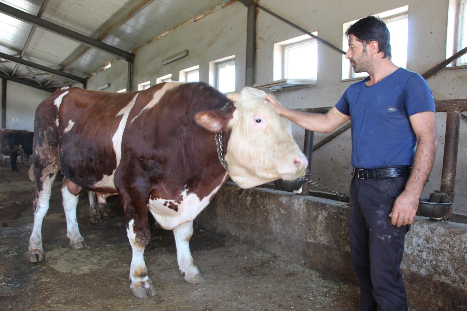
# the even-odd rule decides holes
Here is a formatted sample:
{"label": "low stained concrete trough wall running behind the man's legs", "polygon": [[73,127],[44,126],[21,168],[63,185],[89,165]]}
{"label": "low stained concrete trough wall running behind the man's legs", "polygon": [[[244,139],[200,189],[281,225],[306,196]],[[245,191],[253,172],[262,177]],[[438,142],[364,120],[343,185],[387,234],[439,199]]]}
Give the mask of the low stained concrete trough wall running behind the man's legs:
{"label": "low stained concrete trough wall running behind the man's legs", "polygon": [[[196,222],[325,276],[356,283],[348,205],[290,192],[224,185]],[[467,310],[467,225],[418,218],[406,236],[401,269],[411,307]]]}

